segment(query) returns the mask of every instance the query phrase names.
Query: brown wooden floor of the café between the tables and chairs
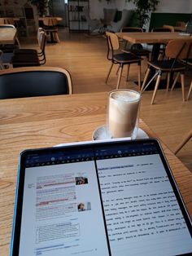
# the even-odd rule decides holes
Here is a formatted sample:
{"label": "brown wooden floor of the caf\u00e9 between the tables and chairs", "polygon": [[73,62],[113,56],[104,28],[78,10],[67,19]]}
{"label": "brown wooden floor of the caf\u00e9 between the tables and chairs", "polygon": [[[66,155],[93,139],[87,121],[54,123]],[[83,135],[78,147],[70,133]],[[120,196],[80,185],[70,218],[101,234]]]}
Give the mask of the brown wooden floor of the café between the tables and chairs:
{"label": "brown wooden floor of the caf\u00e9 between the tables and chairs", "polygon": [[[68,29],[59,30],[59,44],[46,45],[46,65],[66,68],[72,75],[73,93],[110,91],[116,89],[116,68],[111,73],[108,84],[105,83],[110,63],[107,61],[107,42],[101,35],[87,33],[68,33]],[[33,43],[34,42],[34,43]],[[33,38],[21,40],[23,47],[36,47]],[[146,61],[142,65],[142,77],[146,70]],[[186,92],[189,90],[191,73],[187,74]],[[121,87],[137,90],[137,65],[130,68],[129,82],[125,82],[125,73]],[[151,105],[152,91],[142,95],[141,117],[154,130],[159,139],[172,151],[192,128],[192,96],[182,102],[181,88],[168,91],[159,90],[155,104]],[[177,154],[192,171],[192,139]]]}

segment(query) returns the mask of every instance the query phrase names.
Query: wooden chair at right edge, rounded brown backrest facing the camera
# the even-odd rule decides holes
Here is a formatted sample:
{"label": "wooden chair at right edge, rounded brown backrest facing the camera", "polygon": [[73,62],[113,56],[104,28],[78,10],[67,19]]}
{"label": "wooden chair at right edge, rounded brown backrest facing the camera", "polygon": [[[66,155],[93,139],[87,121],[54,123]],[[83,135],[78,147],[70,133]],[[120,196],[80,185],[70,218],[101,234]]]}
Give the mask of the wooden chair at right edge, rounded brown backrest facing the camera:
{"label": "wooden chair at right edge, rounded brown backrest facing the camera", "polygon": [[[148,68],[146,71],[146,76],[142,83],[142,89],[145,90],[146,87],[157,77],[155,83],[154,93],[151,99],[151,104],[154,104],[155,96],[159,87],[159,82],[161,80],[162,73],[168,73],[167,90],[169,87],[170,76],[172,72],[181,73],[181,89],[182,89],[182,99],[185,101],[185,64],[179,62],[178,60],[185,60],[188,58],[190,51],[191,41],[185,41],[183,39],[175,39],[168,42],[165,49],[165,55],[168,60],[157,60],[148,61]],[[154,77],[151,81],[147,83],[147,79],[151,73],[151,67],[156,69]]]}

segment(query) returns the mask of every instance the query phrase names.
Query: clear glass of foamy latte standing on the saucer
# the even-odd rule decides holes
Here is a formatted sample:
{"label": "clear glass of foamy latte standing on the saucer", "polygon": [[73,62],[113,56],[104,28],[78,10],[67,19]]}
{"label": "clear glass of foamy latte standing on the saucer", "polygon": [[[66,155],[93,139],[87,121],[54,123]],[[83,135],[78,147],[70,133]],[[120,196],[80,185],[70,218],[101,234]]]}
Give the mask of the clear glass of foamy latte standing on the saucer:
{"label": "clear glass of foamy latte standing on the saucer", "polygon": [[108,97],[107,132],[111,138],[136,139],[141,95],[135,90],[112,90]]}

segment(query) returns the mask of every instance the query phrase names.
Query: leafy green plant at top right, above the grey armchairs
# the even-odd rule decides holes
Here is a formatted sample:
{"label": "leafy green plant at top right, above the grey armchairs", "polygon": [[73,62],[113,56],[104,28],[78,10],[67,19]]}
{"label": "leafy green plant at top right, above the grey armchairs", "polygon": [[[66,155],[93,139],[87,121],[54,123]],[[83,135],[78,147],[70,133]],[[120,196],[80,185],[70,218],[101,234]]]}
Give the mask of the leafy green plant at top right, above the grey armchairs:
{"label": "leafy green plant at top right, above the grey armchairs", "polygon": [[150,20],[151,11],[155,11],[159,0],[128,0],[135,5],[137,26],[143,28],[148,20]]}

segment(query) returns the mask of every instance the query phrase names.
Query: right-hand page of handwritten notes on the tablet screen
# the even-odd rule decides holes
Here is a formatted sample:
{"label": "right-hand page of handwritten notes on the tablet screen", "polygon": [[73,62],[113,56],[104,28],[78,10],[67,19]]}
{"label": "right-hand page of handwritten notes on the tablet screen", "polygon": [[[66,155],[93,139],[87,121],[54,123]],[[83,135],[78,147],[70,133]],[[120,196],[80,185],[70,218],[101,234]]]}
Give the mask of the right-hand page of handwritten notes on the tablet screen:
{"label": "right-hand page of handwritten notes on the tablet screen", "polygon": [[159,155],[98,160],[97,166],[112,256],[192,251]]}

